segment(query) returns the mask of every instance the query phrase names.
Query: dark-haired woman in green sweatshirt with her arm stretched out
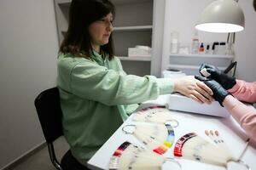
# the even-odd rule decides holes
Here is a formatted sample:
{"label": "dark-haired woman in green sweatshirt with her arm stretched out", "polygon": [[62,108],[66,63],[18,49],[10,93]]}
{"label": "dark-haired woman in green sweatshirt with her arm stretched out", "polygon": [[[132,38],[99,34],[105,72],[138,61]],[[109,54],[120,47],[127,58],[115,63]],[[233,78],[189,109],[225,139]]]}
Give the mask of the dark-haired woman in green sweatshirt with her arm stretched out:
{"label": "dark-haired woman in green sweatshirt with her arm stretched out", "polygon": [[138,103],[179,92],[211,103],[212,90],[194,77],[172,80],[126,75],[113,55],[114,6],[108,0],[73,0],[58,56],[63,130],[84,165]]}

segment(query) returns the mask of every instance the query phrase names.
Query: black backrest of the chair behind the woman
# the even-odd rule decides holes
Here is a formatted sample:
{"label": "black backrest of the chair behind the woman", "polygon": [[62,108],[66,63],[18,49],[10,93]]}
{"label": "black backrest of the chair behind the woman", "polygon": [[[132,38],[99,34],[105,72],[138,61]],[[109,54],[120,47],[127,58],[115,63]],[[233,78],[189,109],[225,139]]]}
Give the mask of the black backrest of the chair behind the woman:
{"label": "black backrest of the chair behind the woman", "polygon": [[43,129],[44,138],[48,143],[52,143],[63,134],[61,124],[62,111],[58,88],[44,90],[35,99],[35,106]]}

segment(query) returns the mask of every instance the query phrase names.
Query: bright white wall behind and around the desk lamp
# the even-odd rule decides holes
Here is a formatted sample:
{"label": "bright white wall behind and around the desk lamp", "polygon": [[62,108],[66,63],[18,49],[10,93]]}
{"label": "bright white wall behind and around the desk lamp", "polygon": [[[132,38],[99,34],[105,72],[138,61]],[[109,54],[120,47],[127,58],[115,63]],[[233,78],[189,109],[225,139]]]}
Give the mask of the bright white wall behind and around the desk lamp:
{"label": "bright white wall behind and around the desk lamp", "polygon": [[[213,0],[166,0],[166,18],[162,53],[162,70],[167,68],[172,31],[179,31],[180,42],[191,42],[194,26],[202,10]],[[245,14],[246,28],[236,33],[236,77],[246,81],[256,81],[256,12],[253,0],[240,0],[239,5]],[[199,31],[201,42],[226,41],[227,34]]]}

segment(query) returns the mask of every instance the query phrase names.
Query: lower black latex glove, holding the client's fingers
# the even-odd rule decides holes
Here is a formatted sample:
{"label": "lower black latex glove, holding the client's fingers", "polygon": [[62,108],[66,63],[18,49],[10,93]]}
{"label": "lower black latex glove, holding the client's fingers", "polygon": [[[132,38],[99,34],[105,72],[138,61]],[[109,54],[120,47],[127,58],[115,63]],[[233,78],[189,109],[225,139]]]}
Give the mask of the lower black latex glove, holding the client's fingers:
{"label": "lower black latex glove, holding the client's fingers", "polygon": [[195,75],[195,78],[197,80],[200,80],[201,82],[204,82],[207,87],[211,88],[212,89],[212,92],[213,92],[213,98],[218,101],[218,103],[222,105],[225,97],[227,95],[229,95],[229,92],[224,89],[218,82],[216,82],[215,80],[212,80],[212,79],[208,79],[206,77],[201,77],[201,76],[198,76],[198,75]]}

